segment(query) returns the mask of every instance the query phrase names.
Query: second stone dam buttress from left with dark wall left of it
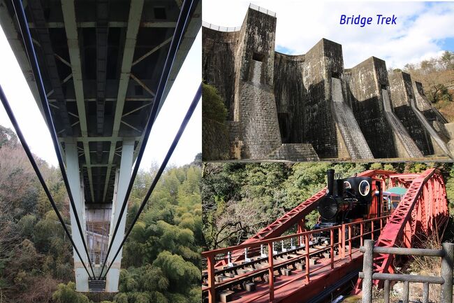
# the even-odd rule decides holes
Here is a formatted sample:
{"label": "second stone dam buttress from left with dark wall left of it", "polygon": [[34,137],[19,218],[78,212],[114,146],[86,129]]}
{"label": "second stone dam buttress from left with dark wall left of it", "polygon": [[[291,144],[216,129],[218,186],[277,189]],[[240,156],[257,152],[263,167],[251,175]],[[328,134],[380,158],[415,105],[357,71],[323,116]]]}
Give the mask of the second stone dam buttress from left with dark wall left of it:
{"label": "second stone dam buttress from left with dark wall left of it", "polygon": [[[342,45],[321,39],[305,55],[274,55],[274,95],[284,143],[308,142],[323,158],[372,159],[342,86]],[[335,100],[337,102],[335,102]]]}

